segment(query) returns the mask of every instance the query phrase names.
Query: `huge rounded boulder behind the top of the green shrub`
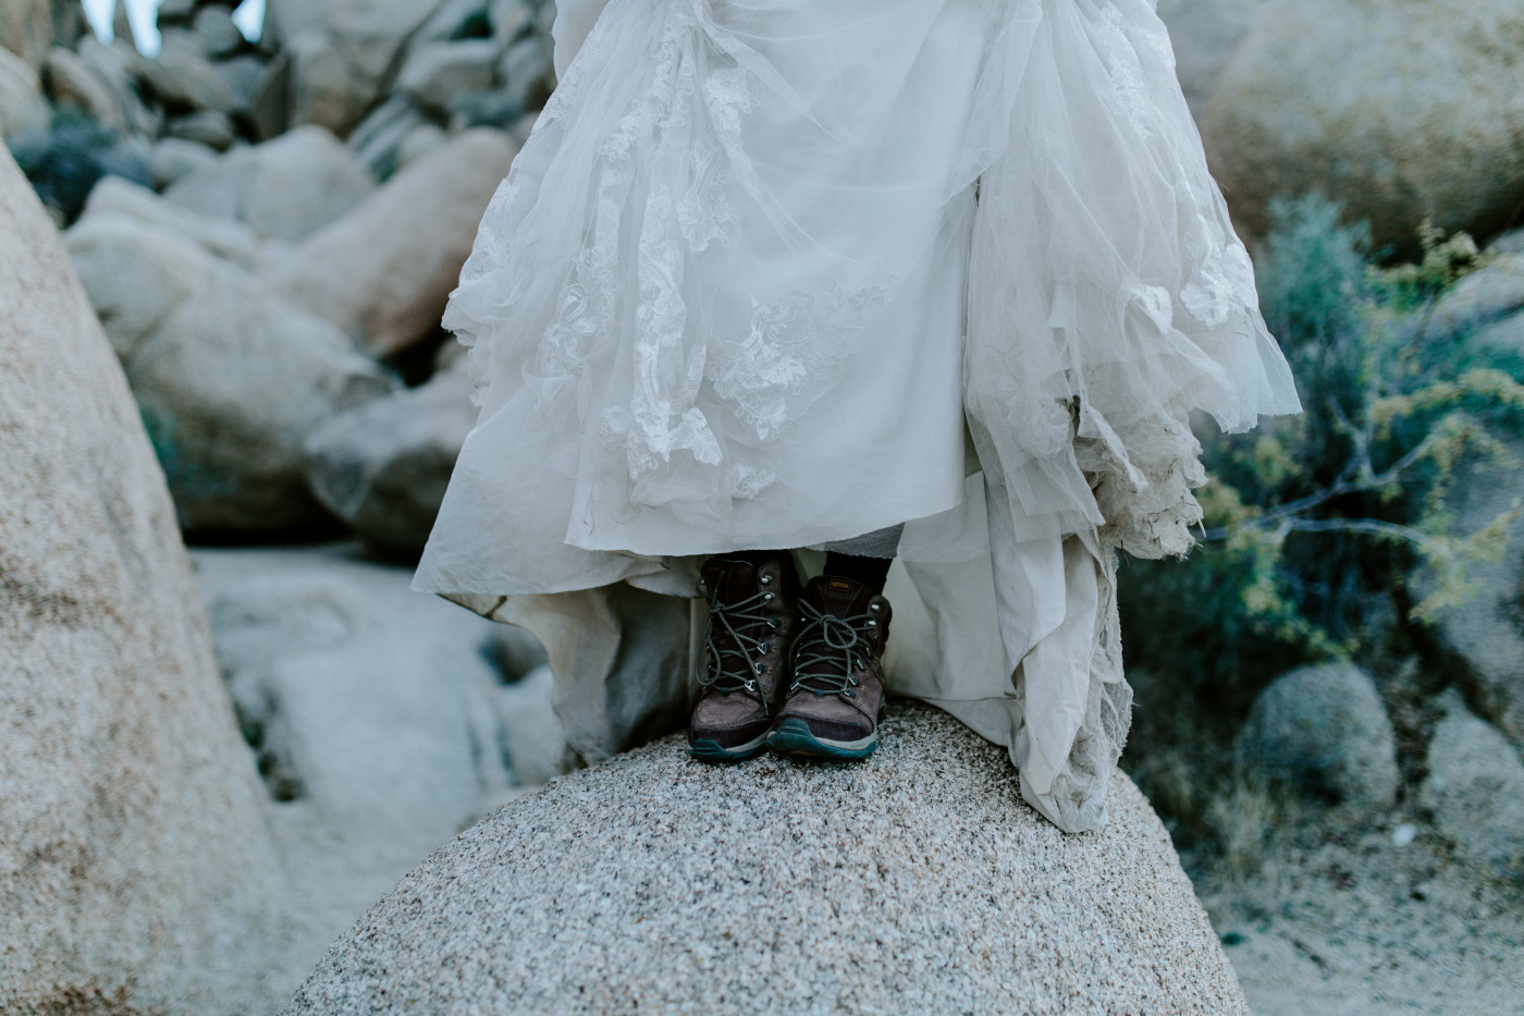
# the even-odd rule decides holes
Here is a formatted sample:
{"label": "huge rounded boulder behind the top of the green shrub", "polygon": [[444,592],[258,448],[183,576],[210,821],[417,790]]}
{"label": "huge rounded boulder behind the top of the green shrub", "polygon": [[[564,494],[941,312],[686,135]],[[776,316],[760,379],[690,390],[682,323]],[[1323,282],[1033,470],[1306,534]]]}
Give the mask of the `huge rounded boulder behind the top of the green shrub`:
{"label": "huge rounded boulder behind the top of the green shrub", "polygon": [[1524,198],[1515,0],[1276,0],[1202,114],[1213,174],[1250,233],[1276,195],[1318,191],[1378,244],[1417,246],[1426,217],[1486,236]]}

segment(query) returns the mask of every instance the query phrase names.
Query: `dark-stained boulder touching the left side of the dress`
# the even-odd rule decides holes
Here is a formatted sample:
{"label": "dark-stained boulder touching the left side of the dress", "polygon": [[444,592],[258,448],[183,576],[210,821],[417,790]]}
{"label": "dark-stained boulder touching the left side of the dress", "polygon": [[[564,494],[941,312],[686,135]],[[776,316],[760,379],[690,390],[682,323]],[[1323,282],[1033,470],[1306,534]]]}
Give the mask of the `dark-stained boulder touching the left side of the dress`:
{"label": "dark-stained boulder touching the left side of the dress", "polygon": [[477,412],[457,369],[340,413],[306,441],[312,493],[370,543],[421,552]]}

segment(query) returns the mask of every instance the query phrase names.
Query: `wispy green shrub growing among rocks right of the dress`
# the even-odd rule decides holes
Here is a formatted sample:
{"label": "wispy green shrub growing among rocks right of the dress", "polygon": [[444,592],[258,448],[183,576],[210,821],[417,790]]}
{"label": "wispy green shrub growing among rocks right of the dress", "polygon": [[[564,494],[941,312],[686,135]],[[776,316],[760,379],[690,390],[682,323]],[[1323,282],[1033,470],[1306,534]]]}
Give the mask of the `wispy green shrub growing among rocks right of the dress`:
{"label": "wispy green shrub growing among rocks right of the dress", "polygon": [[[1518,513],[1458,532],[1452,482],[1463,461],[1518,467],[1507,447],[1524,435],[1524,363],[1434,325],[1436,302],[1489,258],[1465,233],[1425,227],[1420,241],[1417,264],[1379,267],[1369,232],[1341,224],[1337,204],[1273,206],[1254,258],[1260,310],[1305,412],[1244,435],[1198,427],[1210,476],[1201,545],[1184,561],[1120,569],[1126,664],[1140,677],[1129,755],[1145,790],[1157,769],[1160,795],[1181,798],[1181,751],[1198,773],[1230,772],[1224,749],[1253,697],[1292,665],[1398,673],[1419,651],[1416,625],[1463,603],[1468,567],[1500,551]],[[1420,567],[1422,595],[1410,581]],[[1151,766],[1155,749],[1173,752],[1169,766]],[[1205,804],[1166,813],[1187,839],[1222,839],[1219,819]]]}

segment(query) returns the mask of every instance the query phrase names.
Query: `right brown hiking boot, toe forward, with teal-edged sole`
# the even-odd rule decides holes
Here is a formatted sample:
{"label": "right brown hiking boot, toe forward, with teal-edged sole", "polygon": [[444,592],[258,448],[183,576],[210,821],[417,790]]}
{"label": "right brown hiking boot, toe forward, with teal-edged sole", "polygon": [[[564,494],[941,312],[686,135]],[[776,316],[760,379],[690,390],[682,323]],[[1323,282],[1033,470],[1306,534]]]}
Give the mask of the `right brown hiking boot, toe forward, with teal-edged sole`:
{"label": "right brown hiking boot, toe forward, with teal-edged sole", "polygon": [[863,583],[820,575],[799,601],[792,680],[768,748],[821,758],[866,758],[884,711],[888,601]]}

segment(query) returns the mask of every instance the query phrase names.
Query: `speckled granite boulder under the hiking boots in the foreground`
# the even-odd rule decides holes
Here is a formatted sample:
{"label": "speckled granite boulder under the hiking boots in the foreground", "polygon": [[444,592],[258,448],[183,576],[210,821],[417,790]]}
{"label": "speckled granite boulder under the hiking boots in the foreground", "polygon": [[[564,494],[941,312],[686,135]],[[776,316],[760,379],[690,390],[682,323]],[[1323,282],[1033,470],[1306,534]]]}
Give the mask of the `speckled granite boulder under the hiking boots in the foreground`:
{"label": "speckled granite boulder under the hiking boots in the foreground", "polygon": [[1004,751],[893,706],[861,764],[666,738],[520,798],[343,935],[287,1013],[1247,1013],[1126,776],[1070,836]]}

